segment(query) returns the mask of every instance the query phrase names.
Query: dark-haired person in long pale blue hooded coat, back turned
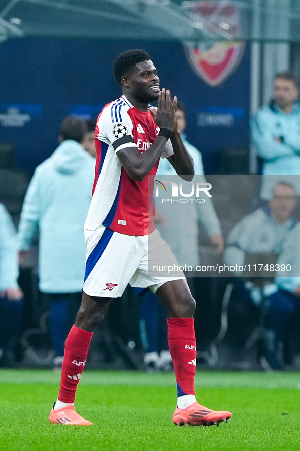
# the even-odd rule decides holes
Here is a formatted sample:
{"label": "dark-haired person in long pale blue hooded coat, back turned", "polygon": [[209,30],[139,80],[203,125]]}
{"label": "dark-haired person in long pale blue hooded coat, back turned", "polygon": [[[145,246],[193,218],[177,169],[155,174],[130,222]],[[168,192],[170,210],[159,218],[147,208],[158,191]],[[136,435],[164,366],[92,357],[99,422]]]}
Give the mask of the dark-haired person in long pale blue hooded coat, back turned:
{"label": "dark-haired person in long pale blue hooded coat, back turned", "polygon": [[[60,145],[32,177],[18,230],[21,265],[39,230],[39,288],[50,303],[50,334],[57,367],[61,366],[64,341],[81,302],[85,271],[83,225],[95,171],[95,159],[79,144],[86,130],[85,121],[78,117],[63,120]],[[68,324],[70,310],[72,321]]]}

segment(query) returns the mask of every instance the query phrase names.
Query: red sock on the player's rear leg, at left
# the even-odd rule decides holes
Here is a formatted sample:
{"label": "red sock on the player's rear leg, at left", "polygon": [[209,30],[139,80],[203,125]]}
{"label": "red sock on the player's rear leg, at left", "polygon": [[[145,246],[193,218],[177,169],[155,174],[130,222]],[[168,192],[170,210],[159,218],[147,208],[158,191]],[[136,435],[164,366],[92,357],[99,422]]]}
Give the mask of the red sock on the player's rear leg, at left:
{"label": "red sock on the player's rear leg, at left", "polygon": [[84,370],[92,336],[92,332],[79,329],[75,325],[69,332],[64,346],[59,401],[70,404],[75,401],[77,385]]}

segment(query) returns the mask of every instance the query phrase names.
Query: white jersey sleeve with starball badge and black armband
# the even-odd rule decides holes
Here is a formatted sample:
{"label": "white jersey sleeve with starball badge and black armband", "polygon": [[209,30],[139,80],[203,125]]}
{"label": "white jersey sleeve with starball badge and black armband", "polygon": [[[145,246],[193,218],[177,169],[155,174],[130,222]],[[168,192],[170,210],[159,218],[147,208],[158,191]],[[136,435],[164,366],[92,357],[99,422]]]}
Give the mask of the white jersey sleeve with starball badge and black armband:
{"label": "white jersey sleeve with starball badge and black armband", "polygon": [[112,144],[115,152],[124,147],[137,147],[132,130],[134,125],[128,112],[119,105],[108,105],[99,116],[97,138]]}

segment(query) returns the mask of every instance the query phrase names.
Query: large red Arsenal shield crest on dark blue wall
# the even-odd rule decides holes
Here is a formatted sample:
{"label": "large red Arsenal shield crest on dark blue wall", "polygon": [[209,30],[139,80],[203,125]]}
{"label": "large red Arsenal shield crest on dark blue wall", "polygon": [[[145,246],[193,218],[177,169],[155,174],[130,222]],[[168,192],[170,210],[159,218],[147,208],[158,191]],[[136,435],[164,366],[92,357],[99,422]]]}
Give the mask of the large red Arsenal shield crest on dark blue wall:
{"label": "large red Arsenal shield crest on dark blue wall", "polygon": [[209,86],[222,84],[238,67],[245,50],[245,43],[234,41],[239,32],[239,16],[232,5],[204,1],[196,4],[193,12],[204,21],[207,31],[223,33],[230,41],[184,44],[188,61],[194,72]]}

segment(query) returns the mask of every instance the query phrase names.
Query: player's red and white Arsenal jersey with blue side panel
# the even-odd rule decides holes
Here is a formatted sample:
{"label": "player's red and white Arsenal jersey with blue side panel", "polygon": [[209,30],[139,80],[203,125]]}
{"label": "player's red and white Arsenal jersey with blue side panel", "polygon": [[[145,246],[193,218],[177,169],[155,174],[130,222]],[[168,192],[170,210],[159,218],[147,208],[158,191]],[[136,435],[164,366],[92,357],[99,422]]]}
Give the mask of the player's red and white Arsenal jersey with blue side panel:
{"label": "player's red and white Arsenal jersey with blue side panel", "polygon": [[[132,180],[117,152],[129,146],[140,153],[151,148],[159,133],[150,111],[132,106],[124,95],[106,105],[96,126],[96,174],[93,197],[85,227],[98,225],[126,235],[147,235],[155,229],[153,202],[154,177]],[[132,139],[133,138],[133,139]],[[151,150],[150,150],[151,151]],[[166,150],[167,152],[167,150]],[[168,156],[173,153],[170,145]],[[159,160],[149,172],[154,176]]]}

